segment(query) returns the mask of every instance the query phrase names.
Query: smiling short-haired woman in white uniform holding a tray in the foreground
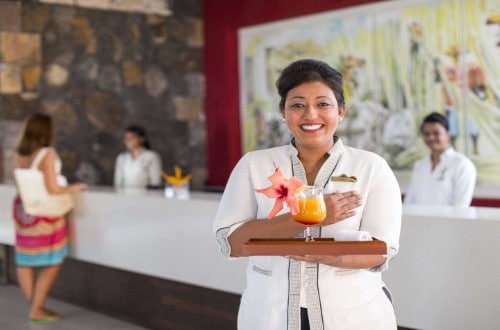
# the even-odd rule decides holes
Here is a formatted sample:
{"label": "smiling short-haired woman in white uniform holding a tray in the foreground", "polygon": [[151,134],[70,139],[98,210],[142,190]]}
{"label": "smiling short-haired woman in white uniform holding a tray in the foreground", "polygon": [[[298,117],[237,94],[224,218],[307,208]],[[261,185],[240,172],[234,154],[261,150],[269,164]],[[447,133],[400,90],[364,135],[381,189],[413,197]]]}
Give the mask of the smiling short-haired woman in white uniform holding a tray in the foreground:
{"label": "smiling short-haired woman in white uniform holding a tray in the foreground", "polygon": [[396,329],[381,272],[399,248],[398,182],[380,156],[345,146],[334,135],[346,114],[337,70],[300,60],[282,71],[276,85],[279,110],[293,139],[289,145],[251,151],[233,169],[213,224],[222,252],[241,257],[250,238],[302,234],[305,226],[287,209],[268,220],[274,199],[255,191],[269,186],[268,177],[279,167],[285,177],[316,187],[325,187],[332,176],[357,177],[359,194],[326,195],[326,219],[313,227],[315,236],[366,231],[387,243],[387,255],[249,257],[238,329]]}

